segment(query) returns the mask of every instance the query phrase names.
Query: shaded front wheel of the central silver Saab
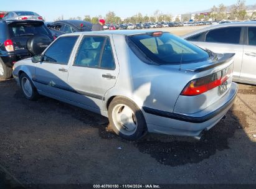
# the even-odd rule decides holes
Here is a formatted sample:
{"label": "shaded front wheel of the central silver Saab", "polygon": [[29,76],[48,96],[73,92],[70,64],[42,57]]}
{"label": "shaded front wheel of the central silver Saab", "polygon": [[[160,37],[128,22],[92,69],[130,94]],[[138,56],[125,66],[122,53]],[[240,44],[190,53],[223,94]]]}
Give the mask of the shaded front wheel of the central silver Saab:
{"label": "shaded front wheel of the central silver Saab", "polygon": [[39,97],[36,87],[26,73],[22,73],[19,76],[19,84],[21,86],[22,93],[27,99],[36,100]]}

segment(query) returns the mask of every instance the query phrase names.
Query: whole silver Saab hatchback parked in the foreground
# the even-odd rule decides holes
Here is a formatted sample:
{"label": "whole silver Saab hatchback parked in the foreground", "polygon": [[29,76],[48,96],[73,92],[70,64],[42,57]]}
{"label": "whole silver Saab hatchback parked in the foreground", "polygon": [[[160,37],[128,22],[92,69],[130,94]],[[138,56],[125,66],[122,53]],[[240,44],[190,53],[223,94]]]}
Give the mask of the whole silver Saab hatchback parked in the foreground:
{"label": "whole silver Saab hatchback parked in the foreground", "polygon": [[198,137],[237,94],[234,54],[202,50],[168,32],[65,34],[13,75],[27,99],[44,95],[108,117],[120,137]]}

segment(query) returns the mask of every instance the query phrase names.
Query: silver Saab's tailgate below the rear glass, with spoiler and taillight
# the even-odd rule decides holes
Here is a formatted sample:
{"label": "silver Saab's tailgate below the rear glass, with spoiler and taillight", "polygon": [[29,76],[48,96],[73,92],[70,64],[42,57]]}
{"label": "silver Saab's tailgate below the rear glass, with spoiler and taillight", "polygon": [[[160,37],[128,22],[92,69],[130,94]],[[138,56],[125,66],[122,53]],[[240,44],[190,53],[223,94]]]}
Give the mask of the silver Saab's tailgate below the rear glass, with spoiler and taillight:
{"label": "silver Saab's tailgate below the rear glass, with spoiler and taillight", "polygon": [[181,65],[181,69],[190,73],[192,78],[181,91],[174,113],[194,114],[228,95],[232,85],[233,62],[234,54],[218,54],[215,60],[202,65]]}

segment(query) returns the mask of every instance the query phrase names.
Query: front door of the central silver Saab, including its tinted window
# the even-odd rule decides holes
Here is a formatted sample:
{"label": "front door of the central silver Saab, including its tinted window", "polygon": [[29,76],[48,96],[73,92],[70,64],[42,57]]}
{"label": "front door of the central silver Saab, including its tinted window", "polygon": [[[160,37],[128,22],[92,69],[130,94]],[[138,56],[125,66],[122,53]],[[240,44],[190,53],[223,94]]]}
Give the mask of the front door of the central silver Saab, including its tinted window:
{"label": "front door of the central silver Saab, including its tinted window", "polygon": [[55,96],[63,96],[72,91],[67,79],[69,59],[78,36],[60,37],[44,53],[44,60],[36,63],[33,80],[39,91]]}

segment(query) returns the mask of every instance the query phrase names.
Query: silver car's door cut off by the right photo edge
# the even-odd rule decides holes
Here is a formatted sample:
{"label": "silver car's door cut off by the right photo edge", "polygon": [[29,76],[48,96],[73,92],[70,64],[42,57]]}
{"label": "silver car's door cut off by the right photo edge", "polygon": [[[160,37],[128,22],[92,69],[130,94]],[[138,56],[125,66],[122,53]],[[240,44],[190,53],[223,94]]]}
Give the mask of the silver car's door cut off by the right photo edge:
{"label": "silver car's door cut off by the right photo edge", "polygon": [[256,27],[248,27],[245,32],[244,56],[240,79],[256,84]]}

